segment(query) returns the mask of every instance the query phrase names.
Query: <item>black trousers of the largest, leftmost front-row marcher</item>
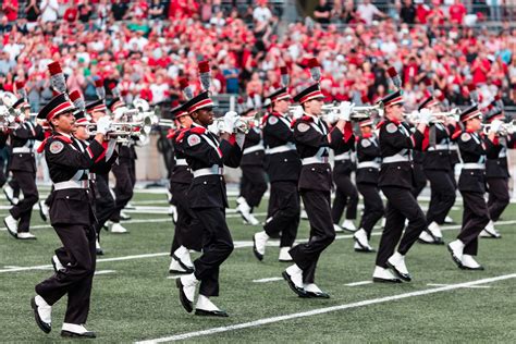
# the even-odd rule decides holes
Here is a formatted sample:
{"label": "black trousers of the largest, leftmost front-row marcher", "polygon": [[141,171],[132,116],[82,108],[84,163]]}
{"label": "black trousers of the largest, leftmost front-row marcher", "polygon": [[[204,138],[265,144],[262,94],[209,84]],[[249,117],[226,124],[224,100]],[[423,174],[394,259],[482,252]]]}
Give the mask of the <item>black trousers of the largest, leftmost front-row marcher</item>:
{"label": "black trousers of the largest, leftmost front-row marcher", "polygon": [[64,322],[86,323],[96,265],[95,230],[77,224],[56,225],[54,229],[71,265],[66,266],[64,271],[59,271],[37,284],[36,293],[49,305],[56,304],[67,294]]}

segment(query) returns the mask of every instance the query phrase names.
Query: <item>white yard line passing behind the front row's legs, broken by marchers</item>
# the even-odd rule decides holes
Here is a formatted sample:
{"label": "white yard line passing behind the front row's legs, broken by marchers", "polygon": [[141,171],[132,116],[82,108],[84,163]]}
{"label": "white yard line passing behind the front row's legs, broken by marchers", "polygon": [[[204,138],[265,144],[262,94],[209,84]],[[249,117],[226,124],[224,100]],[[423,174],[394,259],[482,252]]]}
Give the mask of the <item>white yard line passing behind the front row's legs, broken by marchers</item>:
{"label": "white yard line passing behind the front row's legs, broken by marchers", "polygon": [[[137,220],[135,220],[137,221]],[[170,221],[170,219],[169,219]],[[157,222],[157,221],[151,221],[151,220],[142,220],[142,222]],[[511,220],[511,221],[500,221],[496,224],[497,225],[508,225],[508,224],[515,224],[516,220]],[[460,229],[459,224],[456,225],[446,225],[442,226],[442,231],[452,231],[452,230],[458,230]],[[373,236],[379,236],[382,233],[376,232],[371,233]],[[336,235],[335,239],[341,239],[341,238],[352,238],[353,234],[345,234],[345,235]],[[296,241],[296,243],[303,242],[302,239]],[[268,246],[277,246],[279,241],[269,241],[267,244]],[[251,241],[237,241],[234,242],[235,248],[243,248],[243,247],[253,247],[253,242]],[[122,256],[122,257],[113,257],[113,258],[101,258],[97,259],[97,262],[105,262],[105,261],[121,261],[121,260],[131,260],[131,259],[140,259],[140,258],[153,258],[153,257],[161,257],[161,256],[169,256],[170,253],[158,253],[158,254],[143,254],[143,255],[132,255],[132,256]],[[50,265],[45,265],[45,266],[34,266],[34,267],[19,267],[16,269],[2,269],[0,270],[0,273],[3,272],[20,272],[20,271],[28,271],[28,270],[45,270],[51,267]]]}

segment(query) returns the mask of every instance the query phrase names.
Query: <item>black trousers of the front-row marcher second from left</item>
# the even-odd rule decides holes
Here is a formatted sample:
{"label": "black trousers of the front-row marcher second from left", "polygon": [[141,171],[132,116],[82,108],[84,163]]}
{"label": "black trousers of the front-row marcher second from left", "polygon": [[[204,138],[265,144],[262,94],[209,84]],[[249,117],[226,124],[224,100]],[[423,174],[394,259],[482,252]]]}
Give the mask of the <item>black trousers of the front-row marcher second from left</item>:
{"label": "black trousers of the front-row marcher second from left", "polygon": [[202,255],[194,261],[199,294],[219,296],[219,268],[234,248],[224,209],[196,208],[194,212],[204,228]]}

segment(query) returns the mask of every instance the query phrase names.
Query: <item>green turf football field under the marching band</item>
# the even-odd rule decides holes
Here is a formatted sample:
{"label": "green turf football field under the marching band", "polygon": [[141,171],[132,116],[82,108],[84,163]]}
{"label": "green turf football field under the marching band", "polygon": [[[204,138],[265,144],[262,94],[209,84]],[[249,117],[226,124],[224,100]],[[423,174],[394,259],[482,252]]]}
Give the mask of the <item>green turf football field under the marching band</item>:
{"label": "green turf football field under the marching band", "polygon": [[[167,207],[164,194],[138,193],[133,204]],[[263,212],[265,206],[257,211]],[[459,206],[457,202],[451,213],[457,221]],[[0,216],[5,214],[7,210],[0,210]],[[183,310],[175,280],[168,279],[170,218],[164,213],[132,216],[138,221],[124,224],[130,234],[102,233],[106,255],[97,263],[100,274],[94,281],[87,323],[101,342],[177,339],[173,337],[177,334],[195,342],[241,343],[516,342],[516,205],[507,208],[505,224],[497,228],[503,238],[481,239],[478,261],[486,271],[462,271],[445,246],[416,244],[407,257],[414,282],[400,285],[353,285],[371,280],[376,256],[354,253],[351,235],[341,233],[321,256],[317,271],[317,284],[332,296],[327,300],[300,299],[285,281],[274,280],[287,267],[278,262],[278,247],[268,247],[265,260],[258,262],[250,239],[259,226],[243,225],[230,213],[228,222],[237,248],[222,266],[221,296],[213,298],[229,311],[231,317],[224,319]],[[0,342],[61,341],[65,298],[52,309],[50,334],[37,328],[29,305],[35,284],[52,273],[50,258],[60,246],[37,211],[33,223],[35,242],[15,241],[0,231]],[[450,242],[457,225],[445,229]],[[307,233],[308,222],[302,221],[298,238],[306,238]],[[377,247],[380,230],[374,233],[372,245]],[[26,267],[29,269],[21,269]],[[261,279],[273,280],[253,282]],[[456,285],[466,282],[471,283]],[[278,318],[281,316],[286,317]],[[239,325],[232,327],[235,324]],[[199,333],[202,330],[210,331]]]}

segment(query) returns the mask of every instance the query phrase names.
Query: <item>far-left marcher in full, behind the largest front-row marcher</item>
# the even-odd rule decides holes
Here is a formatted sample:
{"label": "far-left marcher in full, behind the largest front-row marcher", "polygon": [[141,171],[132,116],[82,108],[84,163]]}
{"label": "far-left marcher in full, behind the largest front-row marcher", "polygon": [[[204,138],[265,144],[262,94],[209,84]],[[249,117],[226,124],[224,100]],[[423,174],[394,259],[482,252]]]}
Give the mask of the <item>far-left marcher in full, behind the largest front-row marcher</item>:
{"label": "far-left marcher in full, behind the largest front-row marcher", "polygon": [[24,98],[20,98],[14,105],[15,110],[22,111],[17,119],[17,128],[10,133],[12,147],[12,161],[10,171],[23,193],[23,199],[15,204],[10,214],[3,220],[8,232],[19,239],[35,239],[29,233],[33,207],[38,202],[39,194],[36,186],[36,160],[34,155],[34,142],[44,140],[45,134],[39,124],[34,124],[29,116],[29,105]]}

